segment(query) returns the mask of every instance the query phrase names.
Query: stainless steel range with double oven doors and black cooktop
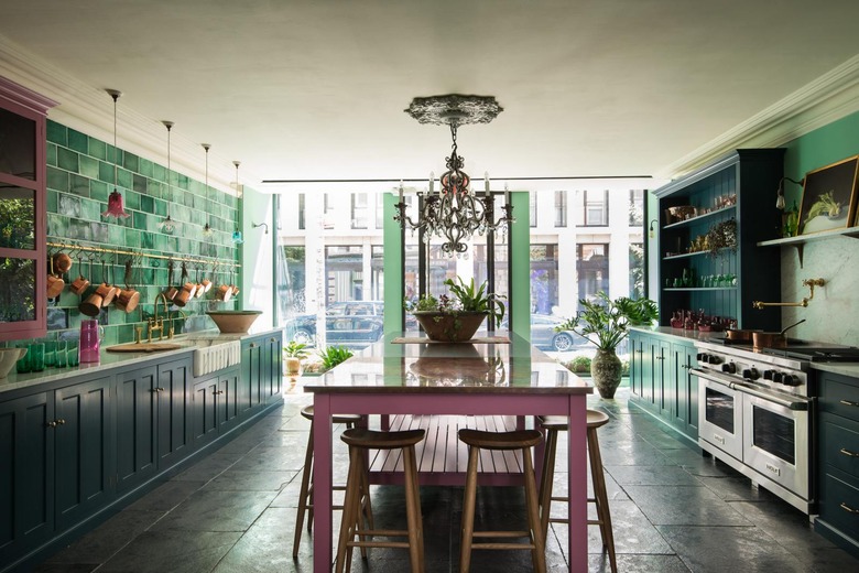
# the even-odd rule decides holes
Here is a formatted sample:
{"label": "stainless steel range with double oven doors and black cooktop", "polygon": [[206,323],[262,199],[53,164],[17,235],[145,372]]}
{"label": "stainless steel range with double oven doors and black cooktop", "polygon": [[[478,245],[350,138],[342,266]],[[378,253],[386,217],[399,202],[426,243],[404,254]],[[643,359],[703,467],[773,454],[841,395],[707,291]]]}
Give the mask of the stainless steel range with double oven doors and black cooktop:
{"label": "stainless steel range with double oven doors and black cooktop", "polygon": [[859,361],[859,348],[696,343],[698,444],[794,507],[814,509],[812,361]]}

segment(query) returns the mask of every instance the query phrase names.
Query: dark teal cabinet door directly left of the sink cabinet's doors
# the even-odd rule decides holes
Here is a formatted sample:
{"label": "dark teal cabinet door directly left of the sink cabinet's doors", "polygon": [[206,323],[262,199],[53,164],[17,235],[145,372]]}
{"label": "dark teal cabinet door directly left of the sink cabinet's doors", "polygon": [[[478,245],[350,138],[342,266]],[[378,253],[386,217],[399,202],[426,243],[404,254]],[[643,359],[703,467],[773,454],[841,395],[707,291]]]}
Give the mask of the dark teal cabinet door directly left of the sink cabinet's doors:
{"label": "dark teal cabinet door directly left of the sink cabinet's doors", "polygon": [[159,366],[157,452],[159,467],[173,465],[191,453],[191,360]]}

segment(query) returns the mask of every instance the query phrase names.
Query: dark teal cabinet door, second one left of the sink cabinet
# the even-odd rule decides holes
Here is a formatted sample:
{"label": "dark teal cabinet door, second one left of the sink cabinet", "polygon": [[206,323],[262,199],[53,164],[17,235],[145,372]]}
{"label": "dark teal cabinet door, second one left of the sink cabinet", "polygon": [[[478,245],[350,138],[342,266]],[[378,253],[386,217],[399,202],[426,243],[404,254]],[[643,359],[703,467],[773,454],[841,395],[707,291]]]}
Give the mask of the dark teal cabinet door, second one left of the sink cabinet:
{"label": "dark teal cabinet door, second one left of the sink cabinet", "polygon": [[117,490],[142,484],[157,466],[154,366],[117,375]]}

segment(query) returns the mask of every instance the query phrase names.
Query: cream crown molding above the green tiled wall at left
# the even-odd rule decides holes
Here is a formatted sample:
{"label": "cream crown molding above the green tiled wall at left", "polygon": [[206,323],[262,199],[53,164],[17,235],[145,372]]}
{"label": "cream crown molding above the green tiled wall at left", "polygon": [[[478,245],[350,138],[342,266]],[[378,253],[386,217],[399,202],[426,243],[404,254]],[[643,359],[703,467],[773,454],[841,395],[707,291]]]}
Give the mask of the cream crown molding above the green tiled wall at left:
{"label": "cream crown molding above the green tiled wall at left", "polygon": [[[88,136],[113,142],[113,100],[100,88],[76,79],[0,35],[0,76],[58,102],[48,118]],[[109,86],[122,89],[122,86]],[[171,118],[164,118],[171,119]],[[206,155],[198,142],[177,133],[170,136],[171,169],[197,181],[205,181]],[[117,102],[117,144],[131,153],[162,165],[167,163],[167,132],[161,119],[152,119]],[[242,172],[251,181],[252,174]],[[236,194],[236,167],[232,160],[209,152],[209,186]],[[255,177],[259,181],[259,177]]]}

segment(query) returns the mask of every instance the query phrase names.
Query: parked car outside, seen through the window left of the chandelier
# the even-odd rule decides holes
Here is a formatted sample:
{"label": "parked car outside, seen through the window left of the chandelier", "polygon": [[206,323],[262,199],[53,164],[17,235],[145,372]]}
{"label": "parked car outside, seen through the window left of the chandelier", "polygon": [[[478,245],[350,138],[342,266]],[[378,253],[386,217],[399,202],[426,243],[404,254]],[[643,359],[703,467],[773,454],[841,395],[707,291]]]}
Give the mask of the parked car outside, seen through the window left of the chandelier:
{"label": "parked car outside, seen through the window left of the chandelier", "polygon": [[[316,345],[316,314],[300,314],[286,322],[286,338]],[[335,302],[325,310],[325,344],[362,348],[382,337],[384,303],[378,301]]]}

